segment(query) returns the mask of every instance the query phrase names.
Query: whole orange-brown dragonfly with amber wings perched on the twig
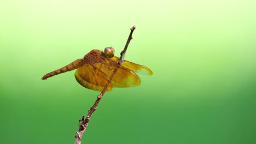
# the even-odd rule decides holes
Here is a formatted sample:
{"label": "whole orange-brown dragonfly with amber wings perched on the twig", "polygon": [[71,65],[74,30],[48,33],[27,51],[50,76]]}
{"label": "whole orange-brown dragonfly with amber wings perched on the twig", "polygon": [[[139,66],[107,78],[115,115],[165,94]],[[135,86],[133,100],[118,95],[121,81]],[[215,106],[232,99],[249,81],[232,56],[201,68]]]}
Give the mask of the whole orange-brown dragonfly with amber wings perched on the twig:
{"label": "whole orange-brown dragonfly with amber wings perched on the twig", "polygon": [[[119,57],[114,56],[113,47],[106,47],[104,52],[91,50],[84,58],[77,59],[65,67],[45,74],[42,80],[77,69],[75,71],[75,79],[80,85],[95,91],[102,91],[110,75],[118,65],[118,61]],[[149,68],[143,65],[124,61],[109,83],[107,91],[112,91],[112,87],[135,87],[140,85],[141,79],[135,72],[143,75],[153,74]]]}

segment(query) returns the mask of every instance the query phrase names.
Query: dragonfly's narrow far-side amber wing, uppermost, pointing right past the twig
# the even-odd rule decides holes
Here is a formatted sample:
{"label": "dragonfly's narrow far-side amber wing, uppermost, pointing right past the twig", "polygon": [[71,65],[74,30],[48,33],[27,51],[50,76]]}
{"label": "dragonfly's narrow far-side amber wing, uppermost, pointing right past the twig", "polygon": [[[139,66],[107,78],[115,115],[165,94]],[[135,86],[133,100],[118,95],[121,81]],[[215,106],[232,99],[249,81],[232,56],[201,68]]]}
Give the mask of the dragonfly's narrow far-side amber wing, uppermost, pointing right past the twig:
{"label": "dragonfly's narrow far-side amber wing, uppermost, pointing right past the twig", "polygon": [[[115,62],[119,61],[119,57],[117,57],[117,56],[114,56],[110,59],[112,59]],[[126,68],[128,68],[132,71],[135,71],[138,74],[143,74],[143,75],[152,75],[153,74],[152,70],[150,70],[149,68],[147,68],[143,65],[133,63],[133,62],[129,62],[129,61],[124,60],[124,64],[122,66],[124,66],[124,67],[126,67]]]}

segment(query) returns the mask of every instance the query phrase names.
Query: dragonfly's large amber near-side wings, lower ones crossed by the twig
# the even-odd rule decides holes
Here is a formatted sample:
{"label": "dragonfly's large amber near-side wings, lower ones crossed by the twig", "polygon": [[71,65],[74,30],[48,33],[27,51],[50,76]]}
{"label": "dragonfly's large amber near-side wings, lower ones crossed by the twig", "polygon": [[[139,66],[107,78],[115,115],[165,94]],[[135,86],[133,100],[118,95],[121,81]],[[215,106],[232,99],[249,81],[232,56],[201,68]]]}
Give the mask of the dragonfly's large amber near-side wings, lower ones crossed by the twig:
{"label": "dragonfly's large amber near-side wings, lower ones crossed by the twig", "polygon": [[[84,65],[75,72],[75,79],[86,88],[102,91],[117,63],[103,55],[90,55],[84,62]],[[140,84],[141,79],[136,73],[120,66],[107,91],[112,91],[112,87],[134,87]]]}

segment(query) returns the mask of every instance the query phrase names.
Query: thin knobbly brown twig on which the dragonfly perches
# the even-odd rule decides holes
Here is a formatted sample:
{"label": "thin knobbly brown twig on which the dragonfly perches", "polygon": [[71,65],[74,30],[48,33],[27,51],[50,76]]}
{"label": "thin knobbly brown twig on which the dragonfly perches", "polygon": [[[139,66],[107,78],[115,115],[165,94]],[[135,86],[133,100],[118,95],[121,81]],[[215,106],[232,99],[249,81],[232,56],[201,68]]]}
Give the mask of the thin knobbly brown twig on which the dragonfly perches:
{"label": "thin knobbly brown twig on which the dragonfly perches", "polygon": [[111,82],[111,80],[113,79],[115,73],[117,73],[118,68],[120,67],[120,65],[122,65],[124,63],[125,52],[126,52],[127,47],[129,46],[129,43],[132,39],[132,33],[133,33],[135,28],[136,28],[135,26],[131,27],[131,32],[130,32],[130,35],[129,35],[127,41],[126,41],[126,45],[124,47],[124,50],[120,53],[121,56],[120,56],[120,59],[118,61],[118,65],[117,65],[117,67],[115,67],[112,75],[109,77],[109,80],[106,83],[105,87],[103,88],[103,91],[98,95],[94,105],[88,110],[87,116],[86,117],[83,116],[82,119],[79,119],[79,128],[78,128],[77,133],[75,133],[75,144],[80,144],[81,143],[82,136],[83,136],[86,128],[88,127],[88,122],[90,121],[90,117],[91,117],[92,113],[94,113],[94,111],[97,109],[98,103],[100,103],[101,98],[103,97],[104,93],[107,91],[108,85]]}

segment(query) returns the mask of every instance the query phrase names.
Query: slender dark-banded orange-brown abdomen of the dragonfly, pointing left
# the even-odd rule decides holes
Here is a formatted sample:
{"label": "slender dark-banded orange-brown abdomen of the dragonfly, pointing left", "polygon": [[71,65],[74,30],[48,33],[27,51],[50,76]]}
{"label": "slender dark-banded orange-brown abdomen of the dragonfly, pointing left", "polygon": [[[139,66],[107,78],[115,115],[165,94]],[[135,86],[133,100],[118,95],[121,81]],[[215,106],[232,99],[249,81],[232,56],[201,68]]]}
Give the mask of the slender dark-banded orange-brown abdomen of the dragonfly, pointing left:
{"label": "slender dark-banded orange-brown abdomen of the dragonfly, pointing left", "polygon": [[84,59],[82,59],[82,58],[81,59],[77,59],[74,62],[66,65],[65,67],[62,67],[62,68],[57,69],[55,71],[51,71],[50,73],[44,75],[42,77],[42,80],[46,80],[47,78],[49,78],[51,76],[58,75],[58,74],[61,74],[61,73],[65,73],[67,71],[71,71],[71,70],[77,69],[77,68],[81,67],[83,64],[84,64]]}

